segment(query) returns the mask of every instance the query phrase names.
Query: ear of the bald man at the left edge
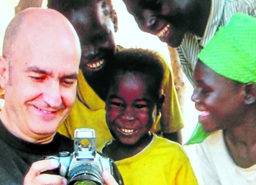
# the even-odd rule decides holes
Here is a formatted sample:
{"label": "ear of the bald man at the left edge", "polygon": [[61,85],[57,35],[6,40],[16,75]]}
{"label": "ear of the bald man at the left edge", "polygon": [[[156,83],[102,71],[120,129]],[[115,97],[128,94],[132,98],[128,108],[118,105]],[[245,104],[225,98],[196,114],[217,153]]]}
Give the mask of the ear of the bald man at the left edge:
{"label": "ear of the bald man at the left edge", "polygon": [[9,65],[7,60],[0,56],[0,87],[5,90],[6,84],[9,80]]}

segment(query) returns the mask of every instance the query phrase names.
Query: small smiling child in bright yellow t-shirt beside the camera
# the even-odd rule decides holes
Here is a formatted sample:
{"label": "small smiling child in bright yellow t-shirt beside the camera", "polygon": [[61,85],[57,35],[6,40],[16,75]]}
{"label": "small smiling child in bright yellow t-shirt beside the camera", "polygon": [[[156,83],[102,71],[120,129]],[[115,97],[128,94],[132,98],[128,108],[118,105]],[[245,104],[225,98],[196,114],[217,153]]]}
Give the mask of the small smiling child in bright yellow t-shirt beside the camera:
{"label": "small smiling child in bright yellow t-shirt beside the camera", "polygon": [[106,122],[114,140],[102,152],[126,185],[197,185],[182,146],[149,132],[160,118],[163,58],[155,51],[120,51],[109,73]]}

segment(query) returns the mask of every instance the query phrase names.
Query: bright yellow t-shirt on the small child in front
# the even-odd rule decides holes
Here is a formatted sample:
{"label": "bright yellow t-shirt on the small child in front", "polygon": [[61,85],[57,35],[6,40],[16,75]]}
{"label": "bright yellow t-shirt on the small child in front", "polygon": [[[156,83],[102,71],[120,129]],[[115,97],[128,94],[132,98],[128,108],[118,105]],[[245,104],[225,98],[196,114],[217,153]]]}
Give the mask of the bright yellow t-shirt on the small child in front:
{"label": "bright yellow t-shirt on the small child in front", "polygon": [[125,185],[198,185],[182,146],[156,134],[140,153],[115,163]]}

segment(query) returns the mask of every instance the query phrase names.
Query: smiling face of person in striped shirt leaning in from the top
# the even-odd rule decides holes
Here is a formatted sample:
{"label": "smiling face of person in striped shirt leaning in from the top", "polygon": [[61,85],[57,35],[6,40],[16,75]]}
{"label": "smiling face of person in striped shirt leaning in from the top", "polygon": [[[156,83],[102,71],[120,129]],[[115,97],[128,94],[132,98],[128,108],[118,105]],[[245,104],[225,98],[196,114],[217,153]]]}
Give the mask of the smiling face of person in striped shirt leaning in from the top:
{"label": "smiling face of person in striped shirt leaning in from the top", "polygon": [[178,47],[188,30],[186,0],[123,0],[140,29]]}

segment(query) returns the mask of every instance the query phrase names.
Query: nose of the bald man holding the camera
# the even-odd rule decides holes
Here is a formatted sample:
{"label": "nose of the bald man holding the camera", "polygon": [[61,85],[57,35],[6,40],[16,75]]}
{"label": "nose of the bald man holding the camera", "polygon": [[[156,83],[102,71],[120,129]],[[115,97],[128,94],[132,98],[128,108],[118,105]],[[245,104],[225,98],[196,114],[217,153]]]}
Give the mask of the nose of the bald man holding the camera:
{"label": "nose of the bald man holding the camera", "polygon": [[52,108],[58,109],[62,105],[62,97],[60,84],[56,81],[51,81],[45,87],[44,101]]}

